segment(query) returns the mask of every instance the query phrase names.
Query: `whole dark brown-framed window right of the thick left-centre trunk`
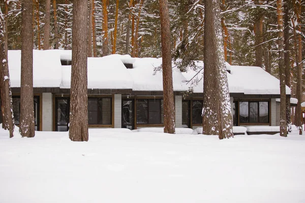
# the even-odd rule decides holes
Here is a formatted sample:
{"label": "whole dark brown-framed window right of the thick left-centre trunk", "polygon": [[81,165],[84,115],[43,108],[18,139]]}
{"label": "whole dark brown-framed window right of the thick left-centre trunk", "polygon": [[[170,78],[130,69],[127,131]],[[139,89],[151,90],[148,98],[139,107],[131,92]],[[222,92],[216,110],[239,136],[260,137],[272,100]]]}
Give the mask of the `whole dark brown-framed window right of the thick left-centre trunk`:
{"label": "whole dark brown-framed window right of the thick left-centre trunk", "polygon": [[88,124],[111,124],[111,98],[88,98]]}

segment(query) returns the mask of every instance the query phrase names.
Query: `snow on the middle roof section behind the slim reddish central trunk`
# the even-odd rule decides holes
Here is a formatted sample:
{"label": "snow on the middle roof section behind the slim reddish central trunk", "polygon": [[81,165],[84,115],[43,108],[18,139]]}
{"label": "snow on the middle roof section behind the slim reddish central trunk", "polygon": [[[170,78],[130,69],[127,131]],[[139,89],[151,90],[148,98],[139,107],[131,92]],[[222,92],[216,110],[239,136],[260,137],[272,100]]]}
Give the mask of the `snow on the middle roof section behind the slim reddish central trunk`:
{"label": "snow on the middle roof section behind the slim reddish central trunk", "polygon": [[[136,58],[133,63],[133,69],[128,69],[131,74],[134,85],[134,91],[163,91],[163,73],[154,72],[155,68],[162,64],[162,58]],[[173,73],[173,89],[174,91],[186,91],[188,87],[184,84],[186,78],[181,72],[175,68]]]}

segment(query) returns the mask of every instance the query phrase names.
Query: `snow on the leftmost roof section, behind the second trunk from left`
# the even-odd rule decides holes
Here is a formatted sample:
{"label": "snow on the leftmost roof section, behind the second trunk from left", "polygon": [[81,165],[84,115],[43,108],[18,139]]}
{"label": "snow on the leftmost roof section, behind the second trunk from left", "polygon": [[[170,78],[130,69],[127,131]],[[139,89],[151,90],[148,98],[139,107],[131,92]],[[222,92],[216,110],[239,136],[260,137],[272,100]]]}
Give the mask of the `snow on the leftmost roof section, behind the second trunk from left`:
{"label": "snow on the leftmost roof section, behind the second trunk from left", "polygon": [[[57,50],[33,50],[33,86],[59,87],[62,82],[60,73],[60,53]],[[21,51],[8,52],[11,87],[20,87]]]}

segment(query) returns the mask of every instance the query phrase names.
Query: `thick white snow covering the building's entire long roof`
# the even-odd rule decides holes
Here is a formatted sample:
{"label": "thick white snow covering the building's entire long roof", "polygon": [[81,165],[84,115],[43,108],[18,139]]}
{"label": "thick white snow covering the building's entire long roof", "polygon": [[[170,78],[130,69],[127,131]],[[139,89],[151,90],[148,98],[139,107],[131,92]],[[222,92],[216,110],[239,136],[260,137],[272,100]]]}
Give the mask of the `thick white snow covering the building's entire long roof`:
{"label": "thick white snow covering the building's entire long roof", "polygon": [[[71,60],[71,50],[34,50],[33,54],[34,87],[70,88],[71,65],[62,65],[60,60]],[[20,87],[20,56],[20,50],[9,51],[12,87]],[[133,64],[133,68],[127,69],[124,63]],[[173,63],[174,91],[186,91],[192,87],[195,93],[203,92],[203,61],[195,63],[196,71],[188,69],[183,73]],[[162,58],[131,58],[119,54],[88,58],[88,89],[162,91],[161,64]],[[279,80],[260,67],[226,65],[230,70],[227,73],[230,93],[280,94]],[[192,78],[187,84],[186,81]],[[290,94],[287,86],[286,93]]]}

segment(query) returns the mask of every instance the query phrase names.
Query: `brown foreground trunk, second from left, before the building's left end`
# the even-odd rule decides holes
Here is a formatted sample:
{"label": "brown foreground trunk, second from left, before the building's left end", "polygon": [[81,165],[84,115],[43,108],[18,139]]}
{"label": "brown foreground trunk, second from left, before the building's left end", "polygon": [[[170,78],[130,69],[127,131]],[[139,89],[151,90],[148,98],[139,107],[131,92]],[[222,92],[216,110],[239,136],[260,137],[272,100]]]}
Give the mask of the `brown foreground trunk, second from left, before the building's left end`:
{"label": "brown foreground trunk, second from left, before the building's left end", "polygon": [[22,137],[35,136],[33,95],[33,1],[21,3],[21,83],[20,83],[20,126]]}

